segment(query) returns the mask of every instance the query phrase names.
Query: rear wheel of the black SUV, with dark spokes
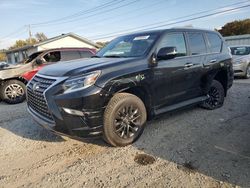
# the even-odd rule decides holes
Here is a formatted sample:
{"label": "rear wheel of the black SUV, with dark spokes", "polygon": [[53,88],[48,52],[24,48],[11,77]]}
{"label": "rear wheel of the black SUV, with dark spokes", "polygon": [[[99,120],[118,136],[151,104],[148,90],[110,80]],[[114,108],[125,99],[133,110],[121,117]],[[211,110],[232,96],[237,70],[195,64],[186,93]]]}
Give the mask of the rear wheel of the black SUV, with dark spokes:
{"label": "rear wheel of the black SUV, with dark spokes", "polygon": [[201,104],[202,108],[214,110],[223,106],[225,91],[220,82],[213,80],[208,95],[209,98]]}

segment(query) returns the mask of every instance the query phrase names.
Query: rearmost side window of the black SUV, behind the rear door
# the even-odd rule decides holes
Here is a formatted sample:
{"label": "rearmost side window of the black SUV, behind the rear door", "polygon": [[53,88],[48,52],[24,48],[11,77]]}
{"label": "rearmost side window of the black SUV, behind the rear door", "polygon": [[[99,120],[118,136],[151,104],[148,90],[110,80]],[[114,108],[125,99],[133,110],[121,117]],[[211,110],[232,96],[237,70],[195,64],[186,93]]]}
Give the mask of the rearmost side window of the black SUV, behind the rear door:
{"label": "rearmost side window of the black SUV, behind the rear door", "polygon": [[207,33],[208,45],[211,53],[221,52],[222,41],[215,33]]}

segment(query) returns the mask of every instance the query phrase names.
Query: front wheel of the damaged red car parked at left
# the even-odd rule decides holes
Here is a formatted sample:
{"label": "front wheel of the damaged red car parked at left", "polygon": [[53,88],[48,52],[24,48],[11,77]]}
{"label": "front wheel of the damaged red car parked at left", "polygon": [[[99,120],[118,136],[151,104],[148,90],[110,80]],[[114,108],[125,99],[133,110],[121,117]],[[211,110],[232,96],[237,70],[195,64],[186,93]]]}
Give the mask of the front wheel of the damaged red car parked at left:
{"label": "front wheel of the damaged red car parked at left", "polygon": [[8,80],[0,89],[0,98],[8,104],[18,104],[26,99],[26,86],[19,80]]}

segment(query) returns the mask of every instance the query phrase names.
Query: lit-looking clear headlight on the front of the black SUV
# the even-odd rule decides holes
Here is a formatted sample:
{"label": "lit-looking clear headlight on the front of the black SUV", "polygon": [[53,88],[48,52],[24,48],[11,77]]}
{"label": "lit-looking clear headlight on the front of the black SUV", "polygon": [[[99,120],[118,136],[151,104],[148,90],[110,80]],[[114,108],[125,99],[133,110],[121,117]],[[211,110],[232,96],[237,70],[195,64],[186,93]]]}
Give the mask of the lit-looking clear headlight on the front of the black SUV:
{"label": "lit-looking clear headlight on the front of the black SUV", "polygon": [[95,84],[97,78],[100,76],[101,71],[90,72],[81,76],[72,77],[66,80],[63,84],[65,92],[85,89]]}

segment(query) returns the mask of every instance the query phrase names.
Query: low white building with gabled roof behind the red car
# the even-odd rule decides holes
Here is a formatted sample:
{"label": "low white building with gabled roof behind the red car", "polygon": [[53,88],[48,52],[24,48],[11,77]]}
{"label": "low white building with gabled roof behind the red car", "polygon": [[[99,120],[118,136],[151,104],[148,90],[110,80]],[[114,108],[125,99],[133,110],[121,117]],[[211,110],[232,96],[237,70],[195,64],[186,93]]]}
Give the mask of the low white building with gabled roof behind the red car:
{"label": "low white building with gabled roof behind the red car", "polygon": [[62,34],[57,37],[50,38],[43,42],[27,45],[21,48],[16,48],[6,51],[8,63],[18,63],[26,59],[34,52],[48,50],[52,48],[94,48],[100,46],[88,39],[82,38],[74,33]]}

